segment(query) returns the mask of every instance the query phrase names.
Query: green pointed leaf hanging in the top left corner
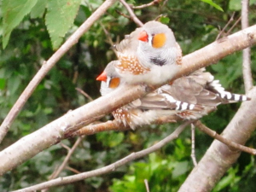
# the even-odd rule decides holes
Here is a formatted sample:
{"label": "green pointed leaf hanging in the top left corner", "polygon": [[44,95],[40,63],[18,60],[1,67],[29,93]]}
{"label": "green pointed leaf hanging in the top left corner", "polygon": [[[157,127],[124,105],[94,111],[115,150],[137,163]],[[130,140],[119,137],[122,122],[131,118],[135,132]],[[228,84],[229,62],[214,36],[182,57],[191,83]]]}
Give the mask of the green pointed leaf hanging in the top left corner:
{"label": "green pointed leaf hanging in the top left corner", "polygon": [[37,2],[38,0],[3,0],[3,49],[9,42],[11,32]]}

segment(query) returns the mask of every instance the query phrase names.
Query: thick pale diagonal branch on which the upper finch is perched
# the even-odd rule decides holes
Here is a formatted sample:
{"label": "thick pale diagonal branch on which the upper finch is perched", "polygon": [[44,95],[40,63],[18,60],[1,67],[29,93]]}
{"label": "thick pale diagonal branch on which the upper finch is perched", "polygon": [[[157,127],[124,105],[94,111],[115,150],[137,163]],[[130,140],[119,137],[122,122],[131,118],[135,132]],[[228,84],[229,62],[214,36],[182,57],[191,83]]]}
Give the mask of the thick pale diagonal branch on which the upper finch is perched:
{"label": "thick pale diagonal branch on which the upper finch is perched", "polygon": [[[183,57],[183,67],[176,78],[199,69],[207,67],[226,55],[256,44],[256,26],[248,27],[241,32],[236,32],[222,41],[214,42],[205,48]],[[154,86],[154,88],[159,87]],[[152,86],[150,86],[152,87]],[[147,94],[146,85],[127,85],[114,90],[107,96],[102,96],[80,108],[73,110],[59,119],[45,125],[38,131],[22,137],[19,141],[0,152],[0,175],[15,168],[21,163],[32,158],[40,151],[60,142],[67,132],[77,131],[84,125],[89,125],[104,114],[111,113],[137,98]],[[114,98],[114,100],[113,100]],[[250,102],[249,102],[250,103]],[[247,113],[249,114],[249,113]]]}

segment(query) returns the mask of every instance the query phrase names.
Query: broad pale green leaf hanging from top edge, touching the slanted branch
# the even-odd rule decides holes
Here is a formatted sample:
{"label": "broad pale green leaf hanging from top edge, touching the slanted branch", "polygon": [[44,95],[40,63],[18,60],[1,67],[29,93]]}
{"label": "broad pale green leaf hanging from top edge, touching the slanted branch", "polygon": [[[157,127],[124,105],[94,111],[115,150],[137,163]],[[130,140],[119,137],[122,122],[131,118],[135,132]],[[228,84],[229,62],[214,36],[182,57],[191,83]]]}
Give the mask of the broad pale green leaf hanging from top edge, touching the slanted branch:
{"label": "broad pale green leaf hanging from top edge, touching the slanted branch", "polygon": [[57,49],[67,30],[73,25],[81,0],[49,0],[45,16],[53,49]]}

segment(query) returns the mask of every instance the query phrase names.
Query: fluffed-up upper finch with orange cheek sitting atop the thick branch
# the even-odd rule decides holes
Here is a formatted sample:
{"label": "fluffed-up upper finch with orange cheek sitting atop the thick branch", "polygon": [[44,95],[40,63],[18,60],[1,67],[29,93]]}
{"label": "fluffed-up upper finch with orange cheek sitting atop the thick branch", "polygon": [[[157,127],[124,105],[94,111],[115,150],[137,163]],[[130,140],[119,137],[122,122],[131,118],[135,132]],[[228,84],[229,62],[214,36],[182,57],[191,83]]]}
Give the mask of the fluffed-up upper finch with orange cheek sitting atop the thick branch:
{"label": "fluffed-up upper finch with orange cheek sitting atop the thick branch", "polygon": [[128,84],[161,84],[172,79],[182,64],[172,30],[154,20],[131,32],[114,49],[119,59],[116,70]]}

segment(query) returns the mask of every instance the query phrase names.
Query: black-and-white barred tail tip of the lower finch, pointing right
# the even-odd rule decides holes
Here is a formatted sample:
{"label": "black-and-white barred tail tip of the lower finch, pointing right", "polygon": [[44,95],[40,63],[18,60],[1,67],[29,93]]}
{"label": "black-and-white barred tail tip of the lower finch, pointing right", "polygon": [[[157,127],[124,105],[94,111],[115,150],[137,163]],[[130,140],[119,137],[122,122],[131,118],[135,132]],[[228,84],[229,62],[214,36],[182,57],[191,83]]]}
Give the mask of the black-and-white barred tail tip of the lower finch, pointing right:
{"label": "black-and-white barred tail tip of the lower finch, pointing right", "polygon": [[225,91],[224,87],[222,87],[222,85],[219,84],[219,80],[212,81],[210,86],[212,87],[213,90],[216,90],[216,94],[218,96],[228,100],[229,102],[244,102],[251,100],[250,97]]}

